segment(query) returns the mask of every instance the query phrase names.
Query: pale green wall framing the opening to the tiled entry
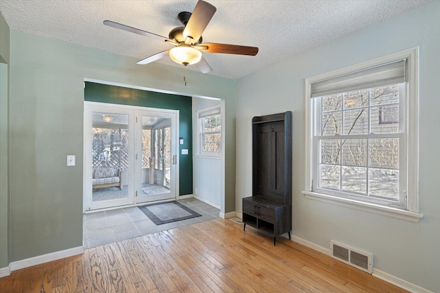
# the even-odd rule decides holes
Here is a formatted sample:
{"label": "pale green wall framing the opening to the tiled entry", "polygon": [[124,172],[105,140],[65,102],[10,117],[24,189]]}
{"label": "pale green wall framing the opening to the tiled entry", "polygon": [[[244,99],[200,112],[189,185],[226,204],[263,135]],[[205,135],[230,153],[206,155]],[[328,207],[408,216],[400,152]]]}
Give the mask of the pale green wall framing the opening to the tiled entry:
{"label": "pale green wall framing the opening to the tiled entry", "polygon": [[[226,189],[234,211],[235,81],[10,31],[10,261],[83,245],[84,81],[225,99]],[[215,69],[214,69],[215,70]],[[76,166],[66,167],[66,155]]]}

